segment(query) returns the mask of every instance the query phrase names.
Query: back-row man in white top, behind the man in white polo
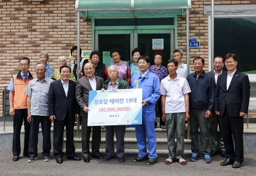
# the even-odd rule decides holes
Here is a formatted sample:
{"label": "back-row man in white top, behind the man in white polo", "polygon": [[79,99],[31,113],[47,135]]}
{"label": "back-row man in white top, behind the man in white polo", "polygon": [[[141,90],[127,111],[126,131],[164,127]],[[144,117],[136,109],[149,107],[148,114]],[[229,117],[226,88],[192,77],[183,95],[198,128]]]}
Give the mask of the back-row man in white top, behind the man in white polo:
{"label": "back-row man in white top, behind the man in white polo", "polygon": [[[178,70],[176,71],[176,73],[184,78],[187,78],[187,76],[188,76],[187,64],[184,64],[183,62],[181,62],[182,56],[183,56],[182,49],[177,48],[172,51],[172,57],[178,61]],[[192,73],[190,68],[189,68],[189,73]]]}

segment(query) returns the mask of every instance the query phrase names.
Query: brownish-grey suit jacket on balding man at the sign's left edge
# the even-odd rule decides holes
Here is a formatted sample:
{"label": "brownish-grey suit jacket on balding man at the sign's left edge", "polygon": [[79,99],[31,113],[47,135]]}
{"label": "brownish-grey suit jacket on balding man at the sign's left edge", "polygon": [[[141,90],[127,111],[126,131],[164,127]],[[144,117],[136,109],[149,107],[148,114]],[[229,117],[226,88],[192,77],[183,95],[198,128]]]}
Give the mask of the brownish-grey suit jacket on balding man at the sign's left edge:
{"label": "brownish-grey suit jacket on balding man at the sign's left edge", "polygon": [[[96,79],[96,90],[101,90],[103,84],[103,78],[95,76]],[[77,80],[76,83],[76,101],[80,106],[80,116],[88,115],[84,112],[84,107],[88,107],[88,100],[89,100],[89,91],[92,90],[92,86],[87,78],[84,76]]]}

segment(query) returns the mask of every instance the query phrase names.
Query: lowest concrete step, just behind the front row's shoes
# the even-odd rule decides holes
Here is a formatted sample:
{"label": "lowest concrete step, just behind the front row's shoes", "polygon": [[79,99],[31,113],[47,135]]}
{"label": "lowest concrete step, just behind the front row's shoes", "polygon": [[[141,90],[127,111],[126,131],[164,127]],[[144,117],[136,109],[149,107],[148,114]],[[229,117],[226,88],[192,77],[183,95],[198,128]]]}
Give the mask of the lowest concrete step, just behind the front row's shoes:
{"label": "lowest concrete step, just behind the front row's shoes", "polygon": [[[92,150],[90,149],[90,152]],[[66,153],[66,149],[63,150],[63,153]],[[115,149],[116,153],[116,149]],[[168,157],[169,150],[156,150],[157,156],[166,156]],[[76,154],[82,154],[82,149],[76,149]],[[100,149],[100,154],[102,156],[106,156],[105,149]],[[138,156],[139,150],[138,149],[124,149],[124,156]],[[191,150],[184,150],[184,156],[191,156]]]}

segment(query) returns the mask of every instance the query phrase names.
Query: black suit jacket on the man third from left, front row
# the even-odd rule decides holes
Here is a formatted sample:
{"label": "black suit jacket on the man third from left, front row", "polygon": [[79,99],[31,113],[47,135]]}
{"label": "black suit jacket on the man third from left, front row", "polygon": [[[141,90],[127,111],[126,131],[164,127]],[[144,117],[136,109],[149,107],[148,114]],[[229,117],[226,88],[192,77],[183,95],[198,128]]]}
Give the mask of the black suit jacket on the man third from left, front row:
{"label": "black suit jacket on the man third from left, front row", "polygon": [[79,106],[75,95],[76,82],[69,80],[67,97],[61,80],[52,82],[48,96],[49,116],[55,115],[56,120],[64,120],[68,111],[70,120],[75,120],[75,114],[79,114]]}

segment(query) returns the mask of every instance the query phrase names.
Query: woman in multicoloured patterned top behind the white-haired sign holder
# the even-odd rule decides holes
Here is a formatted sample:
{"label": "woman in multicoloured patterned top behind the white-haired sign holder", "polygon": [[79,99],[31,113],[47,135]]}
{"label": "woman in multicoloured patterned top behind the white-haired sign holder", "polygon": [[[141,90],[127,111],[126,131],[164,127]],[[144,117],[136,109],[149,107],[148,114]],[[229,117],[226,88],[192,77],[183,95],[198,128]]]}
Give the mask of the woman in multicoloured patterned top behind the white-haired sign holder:
{"label": "woman in multicoloured patterned top behind the white-haired sign holder", "polygon": [[[119,78],[131,84],[131,71],[128,62],[121,60],[121,51],[118,48],[113,48],[110,50],[110,56],[113,58],[114,62],[110,62],[109,66],[117,66],[119,72]],[[108,76],[109,78],[109,76]]]}

